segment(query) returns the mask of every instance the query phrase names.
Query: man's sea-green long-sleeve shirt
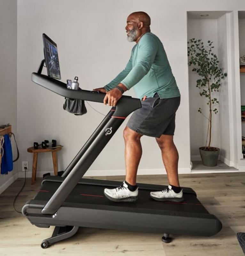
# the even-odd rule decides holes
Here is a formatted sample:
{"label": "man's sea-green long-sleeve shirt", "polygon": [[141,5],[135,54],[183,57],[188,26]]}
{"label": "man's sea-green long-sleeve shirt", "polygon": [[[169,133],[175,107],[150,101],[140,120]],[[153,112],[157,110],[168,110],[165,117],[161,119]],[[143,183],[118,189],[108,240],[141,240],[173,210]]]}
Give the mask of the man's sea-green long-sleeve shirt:
{"label": "man's sea-green long-sleeve shirt", "polygon": [[139,99],[153,97],[155,93],[161,99],[180,96],[162,42],[150,32],[134,45],[125,69],[104,88],[109,91],[119,83],[128,90],[134,87]]}

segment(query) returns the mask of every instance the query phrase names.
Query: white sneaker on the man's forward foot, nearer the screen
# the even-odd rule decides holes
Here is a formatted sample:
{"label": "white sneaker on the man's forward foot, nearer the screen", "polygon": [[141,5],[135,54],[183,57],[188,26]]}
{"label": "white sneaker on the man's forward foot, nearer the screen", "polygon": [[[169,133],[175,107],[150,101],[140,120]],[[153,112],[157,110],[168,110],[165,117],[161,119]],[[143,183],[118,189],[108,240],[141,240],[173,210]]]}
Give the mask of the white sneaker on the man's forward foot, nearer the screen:
{"label": "white sneaker on the man's forward foot, nearer the screen", "polygon": [[105,196],[114,202],[133,202],[138,199],[138,187],[135,191],[130,191],[128,185],[123,182],[119,187],[113,189],[104,189]]}

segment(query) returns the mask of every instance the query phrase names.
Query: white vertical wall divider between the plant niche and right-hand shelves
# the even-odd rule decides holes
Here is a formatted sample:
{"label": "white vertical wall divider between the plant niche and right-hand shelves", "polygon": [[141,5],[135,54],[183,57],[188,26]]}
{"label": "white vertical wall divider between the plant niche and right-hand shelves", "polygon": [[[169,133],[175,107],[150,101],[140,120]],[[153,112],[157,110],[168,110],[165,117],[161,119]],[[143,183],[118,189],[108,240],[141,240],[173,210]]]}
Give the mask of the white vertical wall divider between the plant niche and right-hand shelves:
{"label": "white vertical wall divider between the plant niche and right-hand shelves", "polygon": [[228,74],[220,92],[222,98],[220,119],[222,126],[220,133],[222,150],[220,158],[227,165],[240,169],[239,153],[241,153],[241,146],[237,144],[238,137],[241,144],[241,137],[237,132],[237,127],[241,126],[241,113],[238,110],[240,109],[240,98],[238,96],[240,95],[240,86],[236,82],[240,71],[237,65],[239,63],[237,58],[237,18],[238,12],[234,11],[226,13],[219,19],[219,44],[221,44],[219,56],[221,66],[224,67],[224,72]]}

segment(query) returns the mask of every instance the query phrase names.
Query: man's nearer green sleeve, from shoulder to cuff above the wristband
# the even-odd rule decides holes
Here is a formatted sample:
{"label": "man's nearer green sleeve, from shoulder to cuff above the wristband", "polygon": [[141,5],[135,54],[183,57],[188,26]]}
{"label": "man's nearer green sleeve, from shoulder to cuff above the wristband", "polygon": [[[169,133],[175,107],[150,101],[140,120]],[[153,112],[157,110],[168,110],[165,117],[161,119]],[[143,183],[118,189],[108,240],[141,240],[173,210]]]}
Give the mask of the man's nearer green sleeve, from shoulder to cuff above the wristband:
{"label": "man's nearer green sleeve, from shoulder to cuff above the wristband", "polygon": [[151,35],[145,35],[139,41],[136,65],[121,83],[129,90],[136,85],[150,70],[158,49],[157,41]]}

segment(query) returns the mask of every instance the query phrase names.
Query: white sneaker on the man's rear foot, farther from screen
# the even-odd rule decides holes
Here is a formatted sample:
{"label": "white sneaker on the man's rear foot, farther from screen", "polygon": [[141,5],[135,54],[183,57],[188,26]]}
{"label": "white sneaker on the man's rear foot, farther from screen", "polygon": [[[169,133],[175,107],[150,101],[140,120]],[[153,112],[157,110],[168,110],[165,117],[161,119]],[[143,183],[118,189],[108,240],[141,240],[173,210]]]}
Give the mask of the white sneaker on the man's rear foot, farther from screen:
{"label": "white sneaker on the man's rear foot, farther from screen", "polygon": [[150,192],[151,198],[156,201],[170,201],[170,202],[183,202],[183,189],[179,193],[175,193],[172,190],[172,186],[168,186],[162,191]]}

